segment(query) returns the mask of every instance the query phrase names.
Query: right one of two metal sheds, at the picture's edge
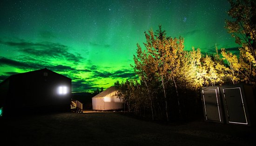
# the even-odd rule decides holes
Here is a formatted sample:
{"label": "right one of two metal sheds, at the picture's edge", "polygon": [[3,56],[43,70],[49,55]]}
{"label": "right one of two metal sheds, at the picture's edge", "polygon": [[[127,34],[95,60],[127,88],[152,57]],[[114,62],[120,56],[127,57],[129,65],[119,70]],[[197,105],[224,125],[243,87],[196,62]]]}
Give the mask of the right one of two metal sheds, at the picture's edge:
{"label": "right one of two metal sheds, at the picture's edge", "polygon": [[221,86],[225,117],[228,124],[255,125],[256,103],[253,87],[247,84]]}

